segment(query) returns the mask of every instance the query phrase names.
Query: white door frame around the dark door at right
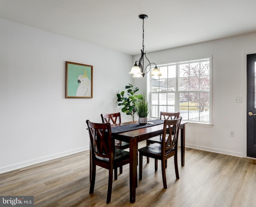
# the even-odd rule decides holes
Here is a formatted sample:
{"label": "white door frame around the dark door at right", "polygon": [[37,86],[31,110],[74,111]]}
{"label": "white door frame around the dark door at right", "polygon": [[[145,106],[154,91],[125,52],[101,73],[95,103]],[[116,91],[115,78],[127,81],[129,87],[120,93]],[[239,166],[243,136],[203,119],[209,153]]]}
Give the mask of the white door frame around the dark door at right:
{"label": "white door frame around the dark door at right", "polygon": [[[243,157],[247,158],[247,55],[256,54],[256,51],[244,53],[244,152]],[[252,158],[255,159],[255,158]]]}

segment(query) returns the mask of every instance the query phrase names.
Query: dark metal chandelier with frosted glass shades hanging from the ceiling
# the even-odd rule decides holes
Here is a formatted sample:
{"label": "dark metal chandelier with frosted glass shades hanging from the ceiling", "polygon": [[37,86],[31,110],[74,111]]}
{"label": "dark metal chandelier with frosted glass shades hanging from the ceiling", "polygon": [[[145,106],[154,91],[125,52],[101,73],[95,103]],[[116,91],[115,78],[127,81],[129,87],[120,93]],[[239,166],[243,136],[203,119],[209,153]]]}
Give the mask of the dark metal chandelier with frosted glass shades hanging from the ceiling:
{"label": "dark metal chandelier with frosted glass shades hanging from the ceiling", "polygon": [[[152,73],[150,75],[154,75],[154,76],[161,76],[162,74],[160,73],[159,69],[156,66],[156,63],[150,63],[150,61],[148,60],[148,58],[146,57],[146,51],[144,52],[144,20],[148,18],[148,16],[146,14],[140,14],[139,18],[141,20],[143,20],[143,24],[142,24],[142,49],[141,51],[141,57],[139,61],[135,61],[134,66],[132,67],[131,71],[129,74],[132,74],[133,78],[142,78],[144,77],[144,75],[146,73],[148,73],[150,71],[151,65],[155,65],[154,69],[152,70]],[[145,61],[147,60],[147,62],[145,63],[145,65],[148,63],[148,65],[144,68],[144,56],[145,56]],[[149,69],[147,71],[147,67],[149,66]]]}

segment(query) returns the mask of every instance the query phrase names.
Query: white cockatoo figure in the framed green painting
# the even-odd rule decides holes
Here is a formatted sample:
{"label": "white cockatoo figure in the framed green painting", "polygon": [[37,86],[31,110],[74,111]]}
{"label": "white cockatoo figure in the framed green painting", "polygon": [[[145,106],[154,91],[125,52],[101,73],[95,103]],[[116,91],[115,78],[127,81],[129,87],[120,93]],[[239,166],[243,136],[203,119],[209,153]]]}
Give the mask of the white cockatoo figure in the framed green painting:
{"label": "white cockatoo figure in the framed green painting", "polygon": [[91,96],[91,81],[88,78],[86,69],[83,75],[78,75],[78,89],[76,91],[77,97],[90,97]]}

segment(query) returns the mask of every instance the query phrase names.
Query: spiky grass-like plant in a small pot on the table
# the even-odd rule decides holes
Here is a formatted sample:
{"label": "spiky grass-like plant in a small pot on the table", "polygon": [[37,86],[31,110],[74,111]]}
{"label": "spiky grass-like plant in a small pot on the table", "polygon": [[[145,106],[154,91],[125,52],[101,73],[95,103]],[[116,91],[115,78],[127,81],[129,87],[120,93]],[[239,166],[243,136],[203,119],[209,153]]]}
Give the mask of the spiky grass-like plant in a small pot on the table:
{"label": "spiky grass-like plant in a small pot on the table", "polygon": [[139,117],[139,124],[144,125],[148,122],[148,113],[150,112],[150,101],[147,98],[147,94],[144,91],[140,98],[135,103],[136,113]]}

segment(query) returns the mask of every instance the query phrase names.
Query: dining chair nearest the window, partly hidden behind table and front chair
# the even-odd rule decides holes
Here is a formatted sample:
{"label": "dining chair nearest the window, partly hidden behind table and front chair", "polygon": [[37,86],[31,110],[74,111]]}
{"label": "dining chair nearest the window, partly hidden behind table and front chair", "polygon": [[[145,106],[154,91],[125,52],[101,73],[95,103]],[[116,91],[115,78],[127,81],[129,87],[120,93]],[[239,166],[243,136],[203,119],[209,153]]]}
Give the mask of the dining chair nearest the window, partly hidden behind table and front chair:
{"label": "dining chair nearest the window, partly hidden behind table and front chair", "polygon": [[[160,119],[164,120],[173,120],[177,119],[180,116],[180,112],[160,112]],[[152,138],[149,138],[146,140],[146,145],[154,144],[154,143],[159,143],[161,144],[162,142],[162,134],[160,136],[155,136]],[[149,163],[149,158],[147,158],[147,163]],[[166,167],[167,167],[167,162],[166,162]],[[155,171],[157,171],[158,168],[158,162],[155,160]]]}

